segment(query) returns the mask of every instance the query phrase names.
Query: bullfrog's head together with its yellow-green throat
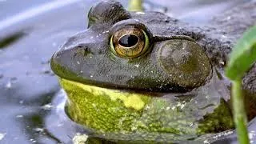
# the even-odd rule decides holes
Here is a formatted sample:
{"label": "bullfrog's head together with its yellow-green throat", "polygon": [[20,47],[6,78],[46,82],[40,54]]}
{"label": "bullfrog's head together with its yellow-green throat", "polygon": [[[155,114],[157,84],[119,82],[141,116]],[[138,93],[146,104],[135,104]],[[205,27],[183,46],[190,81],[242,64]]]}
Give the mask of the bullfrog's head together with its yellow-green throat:
{"label": "bullfrog's head together with its yellow-green throat", "polygon": [[88,29],[53,55],[51,67],[69,95],[70,117],[105,135],[136,132],[156,138],[158,133],[196,135],[222,129],[202,121],[217,107],[226,112],[218,96],[159,96],[200,89],[213,70],[202,47],[178,30],[175,19],[152,14],[130,13],[118,2],[102,1],[90,9]]}

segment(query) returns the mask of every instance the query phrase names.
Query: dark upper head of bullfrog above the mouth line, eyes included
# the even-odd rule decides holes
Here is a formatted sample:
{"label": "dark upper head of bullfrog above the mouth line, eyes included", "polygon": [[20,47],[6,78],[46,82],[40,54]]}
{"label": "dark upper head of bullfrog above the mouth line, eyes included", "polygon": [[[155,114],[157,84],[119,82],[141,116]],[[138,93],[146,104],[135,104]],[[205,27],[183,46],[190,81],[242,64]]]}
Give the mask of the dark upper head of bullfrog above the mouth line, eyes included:
{"label": "dark upper head of bullfrog above the mouth line, eyes included", "polygon": [[[210,78],[202,48],[185,35],[159,36],[118,2],[90,9],[88,29],[71,37],[52,58],[61,78],[87,85],[153,91],[190,90]],[[154,30],[151,30],[154,29]]]}

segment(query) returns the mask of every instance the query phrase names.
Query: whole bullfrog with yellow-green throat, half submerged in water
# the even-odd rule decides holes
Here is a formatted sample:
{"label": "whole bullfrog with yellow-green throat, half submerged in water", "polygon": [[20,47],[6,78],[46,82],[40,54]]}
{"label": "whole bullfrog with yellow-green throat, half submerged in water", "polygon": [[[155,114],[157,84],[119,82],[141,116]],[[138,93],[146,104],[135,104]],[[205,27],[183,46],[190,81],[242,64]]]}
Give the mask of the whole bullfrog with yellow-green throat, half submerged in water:
{"label": "whole bullfrog with yellow-green throat, half submerged in water", "polygon": [[[50,61],[68,96],[66,114],[112,142],[204,141],[234,130],[223,68],[256,22],[255,7],[238,6],[201,26],[99,2],[87,29]],[[244,78],[249,120],[256,115],[255,70]]]}

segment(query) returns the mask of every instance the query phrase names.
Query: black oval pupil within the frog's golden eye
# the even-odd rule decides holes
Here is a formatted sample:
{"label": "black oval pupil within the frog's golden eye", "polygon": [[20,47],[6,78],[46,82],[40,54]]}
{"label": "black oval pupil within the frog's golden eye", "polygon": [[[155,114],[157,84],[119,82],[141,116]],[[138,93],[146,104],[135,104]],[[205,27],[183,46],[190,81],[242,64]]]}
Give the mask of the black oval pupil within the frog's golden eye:
{"label": "black oval pupil within the frog's golden eye", "polygon": [[119,39],[118,43],[124,47],[131,47],[136,45],[138,37],[134,34],[126,34]]}

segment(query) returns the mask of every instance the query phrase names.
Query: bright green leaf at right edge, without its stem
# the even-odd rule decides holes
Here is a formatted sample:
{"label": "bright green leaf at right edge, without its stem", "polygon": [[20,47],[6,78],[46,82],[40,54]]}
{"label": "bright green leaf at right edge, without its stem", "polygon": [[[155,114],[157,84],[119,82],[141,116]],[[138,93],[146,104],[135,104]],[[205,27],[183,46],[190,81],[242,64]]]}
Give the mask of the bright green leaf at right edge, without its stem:
{"label": "bright green leaf at right edge, without its stem", "polygon": [[226,76],[231,80],[242,78],[256,61],[256,26],[251,27],[238,40],[227,63]]}

